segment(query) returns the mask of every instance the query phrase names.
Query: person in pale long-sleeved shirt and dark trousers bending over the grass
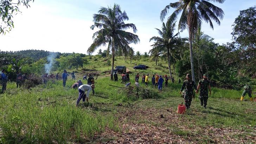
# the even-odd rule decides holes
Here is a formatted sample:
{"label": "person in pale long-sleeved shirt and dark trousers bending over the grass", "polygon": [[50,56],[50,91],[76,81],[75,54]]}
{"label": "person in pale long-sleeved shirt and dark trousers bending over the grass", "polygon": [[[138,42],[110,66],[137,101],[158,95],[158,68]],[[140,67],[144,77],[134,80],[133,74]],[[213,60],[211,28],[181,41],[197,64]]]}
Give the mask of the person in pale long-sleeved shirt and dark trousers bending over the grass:
{"label": "person in pale long-sleeved shirt and dark trousers bending over the grass", "polygon": [[91,90],[94,90],[95,85],[91,84],[91,85],[81,85],[78,87],[78,92],[79,92],[79,96],[76,102],[76,106],[78,106],[79,102],[81,99],[83,99],[83,102],[85,102],[85,92],[87,91],[86,94],[86,101],[88,102],[89,100],[89,93]]}

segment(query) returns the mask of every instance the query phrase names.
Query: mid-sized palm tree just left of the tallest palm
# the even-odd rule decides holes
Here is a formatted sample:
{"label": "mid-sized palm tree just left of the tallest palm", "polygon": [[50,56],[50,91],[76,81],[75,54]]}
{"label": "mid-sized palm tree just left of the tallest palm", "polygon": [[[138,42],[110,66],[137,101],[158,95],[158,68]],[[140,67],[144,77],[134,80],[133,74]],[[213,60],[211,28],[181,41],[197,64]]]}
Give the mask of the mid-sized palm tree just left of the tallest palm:
{"label": "mid-sized palm tree just left of the tallest palm", "polygon": [[160,37],[152,37],[149,41],[154,40],[155,43],[153,47],[159,49],[160,51],[167,51],[167,60],[170,77],[172,77],[171,72],[171,53],[175,53],[179,47],[183,47],[185,38],[178,37],[179,33],[174,34],[175,22],[167,21],[166,24],[163,22],[162,31],[157,29]]}

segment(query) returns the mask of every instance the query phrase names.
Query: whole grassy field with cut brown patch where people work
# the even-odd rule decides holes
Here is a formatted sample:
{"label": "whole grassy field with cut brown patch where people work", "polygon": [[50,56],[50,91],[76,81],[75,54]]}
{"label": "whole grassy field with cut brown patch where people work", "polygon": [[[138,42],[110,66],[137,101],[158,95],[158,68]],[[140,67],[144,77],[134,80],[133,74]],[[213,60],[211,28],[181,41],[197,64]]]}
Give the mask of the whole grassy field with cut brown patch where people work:
{"label": "whole grassy field with cut brown patch where people work", "polygon": [[[168,73],[168,69],[155,70],[154,62],[148,63],[149,70],[135,71],[134,63],[145,62],[130,64],[116,59],[117,65],[126,65],[133,72],[132,85],[137,72],[151,76]],[[110,70],[110,66],[101,67],[103,63],[94,65],[91,60],[85,68]],[[82,75],[77,74],[77,79]],[[179,94],[181,84],[176,82],[169,83],[157,97],[143,99],[127,97],[122,89],[110,86],[124,84],[100,76],[95,95],[90,93],[89,103],[81,101],[79,107],[75,107],[78,91],[70,88],[73,83],[69,77],[63,88],[62,81],[53,80],[29,92],[8,83],[7,91],[0,95],[0,142],[256,143],[256,103],[249,102],[248,96],[240,102],[242,91],[213,88],[207,109],[200,106],[197,94],[191,109],[181,115],[176,110],[184,100]],[[147,89],[158,93],[153,86]]]}

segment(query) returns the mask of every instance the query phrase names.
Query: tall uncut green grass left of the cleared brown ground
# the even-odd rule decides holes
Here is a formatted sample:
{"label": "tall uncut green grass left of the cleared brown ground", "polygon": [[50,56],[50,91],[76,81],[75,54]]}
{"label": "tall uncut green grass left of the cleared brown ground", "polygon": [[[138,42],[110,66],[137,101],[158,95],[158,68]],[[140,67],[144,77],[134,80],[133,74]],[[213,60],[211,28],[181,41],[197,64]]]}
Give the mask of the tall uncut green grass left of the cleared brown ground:
{"label": "tall uncut green grass left of the cleared brown ground", "polygon": [[[67,85],[71,84],[69,80]],[[15,84],[8,85],[10,88]],[[0,98],[0,142],[67,143],[71,139],[79,142],[106,127],[119,130],[111,113],[102,115],[97,111],[91,113],[86,107],[75,107],[76,98],[77,90],[53,83],[38,86],[30,92],[6,91]]]}

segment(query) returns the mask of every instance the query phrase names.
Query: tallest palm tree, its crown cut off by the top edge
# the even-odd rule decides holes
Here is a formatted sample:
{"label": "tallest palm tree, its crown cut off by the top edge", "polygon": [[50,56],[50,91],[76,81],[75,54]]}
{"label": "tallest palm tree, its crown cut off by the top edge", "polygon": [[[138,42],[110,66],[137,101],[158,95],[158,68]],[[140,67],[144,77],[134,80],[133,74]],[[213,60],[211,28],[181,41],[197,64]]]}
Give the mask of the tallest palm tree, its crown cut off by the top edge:
{"label": "tallest palm tree, its crown cut off by the top edge", "polygon": [[223,19],[224,17],[223,10],[211,4],[209,1],[219,2],[222,4],[225,0],[179,0],[178,2],[167,5],[160,14],[160,19],[163,21],[168,10],[170,8],[174,8],[174,12],[168,18],[168,20],[174,22],[178,18],[178,14],[181,13],[178,29],[182,32],[188,28],[191,74],[193,81],[195,80],[192,49],[193,36],[197,32],[198,28],[201,28],[203,20],[210,23],[210,27],[213,29],[212,20],[220,25],[219,19]]}

